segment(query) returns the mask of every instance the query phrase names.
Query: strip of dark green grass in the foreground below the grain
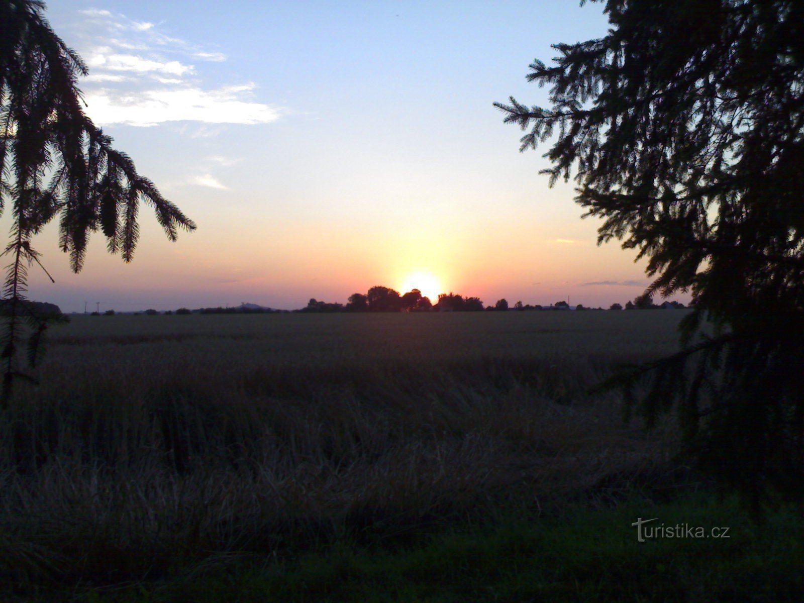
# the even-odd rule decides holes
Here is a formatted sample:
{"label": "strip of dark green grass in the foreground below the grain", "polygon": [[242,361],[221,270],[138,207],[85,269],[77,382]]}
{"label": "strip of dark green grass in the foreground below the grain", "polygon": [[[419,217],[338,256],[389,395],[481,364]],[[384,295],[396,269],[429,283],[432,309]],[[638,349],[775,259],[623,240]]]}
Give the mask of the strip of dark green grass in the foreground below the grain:
{"label": "strip of dark green grass in the foreground below the grain", "polygon": [[[637,541],[637,517],[728,527],[728,539]],[[161,585],[81,593],[80,601],[801,601],[804,521],[758,526],[703,495],[613,509],[523,513],[442,531],[404,548],[338,540],[292,561],[219,562]]]}

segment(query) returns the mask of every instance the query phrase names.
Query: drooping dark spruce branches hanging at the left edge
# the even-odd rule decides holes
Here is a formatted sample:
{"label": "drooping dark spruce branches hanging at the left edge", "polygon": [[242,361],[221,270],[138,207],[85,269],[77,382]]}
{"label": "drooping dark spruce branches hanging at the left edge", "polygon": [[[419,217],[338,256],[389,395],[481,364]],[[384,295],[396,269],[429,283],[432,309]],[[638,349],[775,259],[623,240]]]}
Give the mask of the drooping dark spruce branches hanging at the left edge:
{"label": "drooping dark spruce branches hanging at the left edge", "polygon": [[[84,115],[76,80],[87,70],[55,35],[43,10],[34,0],[0,1],[0,207],[10,203],[12,215],[3,295],[12,306],[25,299],[28,265],[39,264],[31,240],[57,215],[59,246],[75,272],[84,265],[90,232],[97,230],[110,252],[132,259],[141,200],[154,208],[170,240],[177,228],[195,228]],[[47,319],[34,313],[27,318],[33,366]],[[4,401],[14,377],[22,375],[16,366],[21,338],[14,311],[6,319],[2,349]]]}

